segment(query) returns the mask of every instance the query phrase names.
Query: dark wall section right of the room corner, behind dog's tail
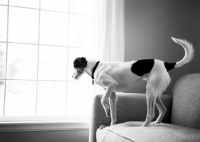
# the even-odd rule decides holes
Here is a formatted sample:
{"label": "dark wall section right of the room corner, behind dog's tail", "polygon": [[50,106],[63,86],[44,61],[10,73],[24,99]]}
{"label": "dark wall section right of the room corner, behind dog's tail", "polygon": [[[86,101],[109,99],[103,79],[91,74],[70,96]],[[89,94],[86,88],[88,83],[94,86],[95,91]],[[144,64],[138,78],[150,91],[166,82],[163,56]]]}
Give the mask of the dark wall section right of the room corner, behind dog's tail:
{"label": "dark wall section right of the room corner, behind dog's tail", "polygon": [[[200,72],[200,1],[179,0],[179,37],[185,38],[193,43],[195,48],[194,60],[178,69],[178,78],[188,73]],[[184,56],[179,48],[178,58]]]}

